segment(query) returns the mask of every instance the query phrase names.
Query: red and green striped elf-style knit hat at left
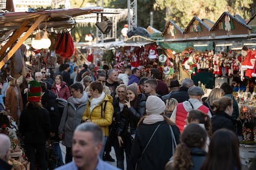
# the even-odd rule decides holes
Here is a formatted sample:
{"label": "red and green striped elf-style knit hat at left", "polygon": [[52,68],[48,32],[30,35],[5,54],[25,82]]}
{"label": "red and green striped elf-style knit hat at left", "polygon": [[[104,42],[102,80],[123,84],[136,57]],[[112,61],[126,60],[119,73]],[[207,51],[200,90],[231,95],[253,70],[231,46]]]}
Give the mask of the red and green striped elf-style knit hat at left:
{"label": "red and green striped elf-style knit hat at left", "polygon": [[40,102],[41,86],[38,81],[28,82],[28,102]]}

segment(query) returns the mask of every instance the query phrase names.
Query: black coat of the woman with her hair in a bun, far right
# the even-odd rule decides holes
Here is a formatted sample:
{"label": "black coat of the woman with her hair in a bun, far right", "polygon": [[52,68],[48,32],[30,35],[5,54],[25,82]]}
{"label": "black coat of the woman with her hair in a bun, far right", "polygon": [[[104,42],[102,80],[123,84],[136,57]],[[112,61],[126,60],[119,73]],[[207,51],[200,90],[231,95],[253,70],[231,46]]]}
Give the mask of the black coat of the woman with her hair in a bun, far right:
{"label": "black coat of the woman with her hair in a bun, far right", "polygon": [[235,124],[233,123],[233,119],[227,113],[217,112],[215,115],[211,117],[211,129],[214,133],[218,129],[226,128],[236,133]]}

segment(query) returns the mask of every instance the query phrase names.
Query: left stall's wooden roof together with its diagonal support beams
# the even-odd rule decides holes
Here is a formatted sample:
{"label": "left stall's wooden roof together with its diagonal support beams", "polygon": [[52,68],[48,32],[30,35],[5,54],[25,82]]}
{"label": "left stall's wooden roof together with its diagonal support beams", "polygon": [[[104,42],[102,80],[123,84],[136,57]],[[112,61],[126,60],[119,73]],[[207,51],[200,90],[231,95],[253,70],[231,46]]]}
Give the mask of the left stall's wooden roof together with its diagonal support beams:
{"label": "left stall's wooden roof together with its diagonal support beams", "polygon": [[[12,57],[22,43],[38,27],[45,28],[72,28],[75,25],[73,17],[78,15],[102,12],[103,7],[83,7],[75,9],[54,9],[32,12],[0,12],[0,41],[6,41],[0,49],[0,68]],[[19,40],[6,54],[8,47]]]}

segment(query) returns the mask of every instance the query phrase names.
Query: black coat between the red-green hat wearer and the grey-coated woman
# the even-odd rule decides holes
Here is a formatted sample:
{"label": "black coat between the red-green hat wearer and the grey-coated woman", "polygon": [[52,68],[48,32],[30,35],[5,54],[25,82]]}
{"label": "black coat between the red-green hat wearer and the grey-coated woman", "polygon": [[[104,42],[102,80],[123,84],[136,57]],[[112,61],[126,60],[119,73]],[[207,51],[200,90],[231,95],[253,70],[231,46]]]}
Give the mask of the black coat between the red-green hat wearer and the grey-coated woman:
{"label": "black coat between the red-green hat wearer and the grey-coated woman", "polygon": [[45,94],[43,94],[41,97],[41,103],[43,107],[45,107],[49,111],[49,116],[51,119],[51,132],[55,133],[55,136],[51,139],[59,141],[58,132],[62,113],[60,112],[57,102],[55,100],[56,97],[57,96],[53,92],[47,90]]}

